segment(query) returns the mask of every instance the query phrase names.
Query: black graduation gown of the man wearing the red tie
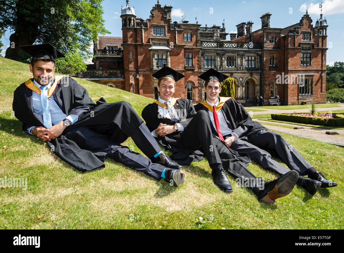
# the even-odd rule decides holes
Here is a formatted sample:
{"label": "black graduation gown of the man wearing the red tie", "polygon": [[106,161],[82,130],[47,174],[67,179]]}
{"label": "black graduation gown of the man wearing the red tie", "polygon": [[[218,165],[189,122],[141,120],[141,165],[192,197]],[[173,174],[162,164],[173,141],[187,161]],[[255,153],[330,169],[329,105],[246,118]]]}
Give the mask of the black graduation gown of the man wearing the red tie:
{"label": "black graduation gown of the man wearing the red tie", "polygon": [[[207,102],[203,100],[195,105],[194,108],[196,112],[199,110],[208,111],[208,107],[205,105],[207,105]],[[245,110],[244,106],[234,98],[220,97],[219,106],[221,105],[221,110],[218,113],[224,114],[228,127],[232,129],[239,136],[239,138],[256,133],[260,130],[267,130],[267,128],[261,125],[259,122],[252,121],[251,116]],[[212,126],[212,130],[213,134],[218,136],[214,126]]]}

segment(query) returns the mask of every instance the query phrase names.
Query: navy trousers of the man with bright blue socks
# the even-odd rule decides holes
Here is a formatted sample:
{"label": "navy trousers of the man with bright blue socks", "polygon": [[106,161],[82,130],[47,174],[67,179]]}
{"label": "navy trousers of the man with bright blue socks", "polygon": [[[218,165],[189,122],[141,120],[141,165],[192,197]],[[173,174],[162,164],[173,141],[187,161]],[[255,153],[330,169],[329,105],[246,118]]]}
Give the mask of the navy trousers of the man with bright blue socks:
{"label": "navy trousers of the man with bright blue socks", "polygon": [[[129,136],[126,136],[116,124],[95,126],[69,126],[63,132],[67,139],[73,140],[80,148],[90,151],[103,151],[116,162],[134,170],[142,171],[157,180],[165,169],[160,164],[154,164],[149,158],[161,151],[161,148],[150,135],[143,123],[131,135],[138,148],[149,158],[120,145]],[[119,142],[120,141],[120,142]]]}

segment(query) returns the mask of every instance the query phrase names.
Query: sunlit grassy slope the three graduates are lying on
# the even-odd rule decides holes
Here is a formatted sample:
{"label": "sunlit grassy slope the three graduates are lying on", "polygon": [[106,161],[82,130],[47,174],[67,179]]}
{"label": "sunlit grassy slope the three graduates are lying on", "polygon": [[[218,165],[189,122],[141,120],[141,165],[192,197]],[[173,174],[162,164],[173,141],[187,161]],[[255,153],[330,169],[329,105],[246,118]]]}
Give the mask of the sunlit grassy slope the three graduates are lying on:
{"label": "sunlit grassy slope the three graduates are lying on", "polygon": [[[344,149],[341,147],[282,134],[339,186],[323,188],[315,196],[295,187],[291,194],[272,205],[261,204],[250,190],[236,187],[232,177],[229,180],[233,193],[218,190],[206,160],[184,167],[185,181],[179,188],[110,159],[106,160],[105,169],[83,174],[58,159],[46,144],[24,134],[21,123],[11,117],[13,91],[31,76],[27,70],[28,65],[0,57],[0,177],[28,180],[26,191],[0,188],[0,229],[344,227]],[[101,96],[108,102],[125,99],[139,115],[152,102],[120,89],[78,81],[94,101]],[[123,145],[140,152],[130,138]],[[316,150],[318,154],[314,154]],[[275,177],[255,163],[248,168],[266,180]],[[43,217],[38,219],[37,214]]]}

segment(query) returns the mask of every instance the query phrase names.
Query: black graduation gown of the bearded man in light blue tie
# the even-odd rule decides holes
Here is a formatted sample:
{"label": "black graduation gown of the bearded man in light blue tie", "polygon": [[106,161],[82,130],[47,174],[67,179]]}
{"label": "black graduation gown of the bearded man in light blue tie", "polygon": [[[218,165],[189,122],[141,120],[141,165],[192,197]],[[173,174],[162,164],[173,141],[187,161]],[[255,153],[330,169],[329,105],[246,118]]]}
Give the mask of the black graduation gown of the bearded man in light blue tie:
{"label": "black graduation gown of the bearded man in light blue tie", "polygon": [[[88,96],[86,89],[73,78],[67,76],[60,78],[53,80],[53,82],[57,81],[57,86],[53,92],[54,100],[66,115],[76,114],[79,116],[78,122],[74,125],[115,123],[120,126],[125,135],[130,136],[143,122],[142,119],[138,119],[139,117],[130,117],[124,106],[120,106],[115,111],[111,108],[115,103],[106,103],[104,98],[100,98],[95,104]],[[24,131],[32,126],[44,126],[42,115],[33,112],[32,90],[27,87],[30,83],[32,80],[22,83],[15,89],[12,104],[14,116],[23,123]],[[105,167],[104,161],[107,153],[82,149],[63,134],[47,141],[47,144],[56,156],[79,171],[84,172]]]}

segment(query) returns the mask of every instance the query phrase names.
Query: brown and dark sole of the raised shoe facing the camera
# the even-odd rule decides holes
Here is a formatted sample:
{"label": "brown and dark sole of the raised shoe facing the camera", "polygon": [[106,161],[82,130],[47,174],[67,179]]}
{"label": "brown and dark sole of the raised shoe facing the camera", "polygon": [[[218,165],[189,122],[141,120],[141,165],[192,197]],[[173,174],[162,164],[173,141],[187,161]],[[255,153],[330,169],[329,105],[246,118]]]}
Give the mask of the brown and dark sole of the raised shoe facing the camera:
{"label": "brown and dark sole of the raised shoe facing the camera", "polygon": [[276,183],[275,187],[271,191],[268,191],[267,196],[272,200],[287,196],[293,190],[298,177],[299,173],[295,170],[284,174]]}

